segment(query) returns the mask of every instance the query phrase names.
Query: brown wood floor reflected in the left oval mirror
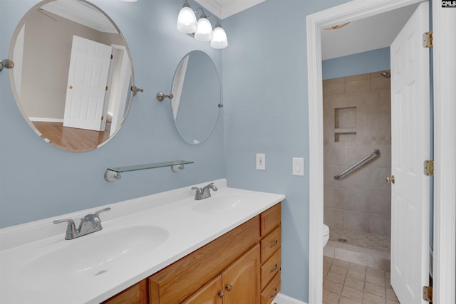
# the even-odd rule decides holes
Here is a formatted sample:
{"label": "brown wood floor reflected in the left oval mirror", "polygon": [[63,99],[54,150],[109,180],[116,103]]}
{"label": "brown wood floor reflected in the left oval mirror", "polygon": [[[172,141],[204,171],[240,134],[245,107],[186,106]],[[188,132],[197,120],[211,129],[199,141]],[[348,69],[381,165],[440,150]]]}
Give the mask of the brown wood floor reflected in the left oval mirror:
{"label": "brown wood floor reflected in the left oval mirror", "polygon": [[86,152],[108,140],[111,123],[106,122],[105,131],[63,127],[63,122],[33,122],[33,125],[51,145],[71,152]]}

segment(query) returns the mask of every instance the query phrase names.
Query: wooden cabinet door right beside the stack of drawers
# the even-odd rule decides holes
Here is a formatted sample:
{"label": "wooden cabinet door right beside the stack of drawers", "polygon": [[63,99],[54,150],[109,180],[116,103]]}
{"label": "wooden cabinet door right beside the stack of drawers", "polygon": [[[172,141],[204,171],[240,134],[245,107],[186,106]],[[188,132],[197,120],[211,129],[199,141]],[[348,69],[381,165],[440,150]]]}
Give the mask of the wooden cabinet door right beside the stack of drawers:
{"label": "wooden cabinet door right beside the stack of drawers", "polygon": [[222,272],[224,304],[259,304],[259,245]]}

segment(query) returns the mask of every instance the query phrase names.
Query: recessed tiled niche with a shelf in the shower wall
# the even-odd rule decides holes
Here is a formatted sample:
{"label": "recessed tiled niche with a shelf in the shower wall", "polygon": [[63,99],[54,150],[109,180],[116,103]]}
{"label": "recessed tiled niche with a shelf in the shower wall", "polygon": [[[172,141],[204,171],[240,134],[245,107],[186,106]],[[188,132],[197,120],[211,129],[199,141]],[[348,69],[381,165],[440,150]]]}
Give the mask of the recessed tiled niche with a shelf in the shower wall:
{"label": "recessed tiled niche with a shelf in the shower wall", "polygon": [[334,142],[356,140],[356,107],[334,109]]}

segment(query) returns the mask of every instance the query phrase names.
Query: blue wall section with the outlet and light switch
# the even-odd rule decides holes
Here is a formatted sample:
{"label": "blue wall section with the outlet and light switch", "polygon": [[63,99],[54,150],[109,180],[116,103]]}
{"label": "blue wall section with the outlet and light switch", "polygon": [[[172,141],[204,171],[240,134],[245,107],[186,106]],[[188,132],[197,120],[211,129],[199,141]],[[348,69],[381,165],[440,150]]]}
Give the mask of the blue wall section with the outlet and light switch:
{"label": "blue wall section with the outlet and light switch", "polygon": [[[268,0],[222,22],[224,131],[230,187],[286,194],[282,205],[282,290],[308,300],[309,118],[306,15],[343,0]],[[266,154],[266,170],[255,154]],[[291,174],[304,157],[305,176]]]}

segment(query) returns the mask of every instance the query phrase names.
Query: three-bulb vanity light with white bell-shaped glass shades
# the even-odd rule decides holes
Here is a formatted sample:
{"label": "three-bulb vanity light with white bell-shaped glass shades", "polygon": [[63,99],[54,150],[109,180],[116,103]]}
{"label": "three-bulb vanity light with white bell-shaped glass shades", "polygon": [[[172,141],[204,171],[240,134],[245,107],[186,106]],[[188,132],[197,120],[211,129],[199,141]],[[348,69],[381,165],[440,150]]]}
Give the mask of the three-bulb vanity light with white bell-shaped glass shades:
{"label": "three-bulb vanity light with white bell-shaped glass shades", "polygon": [[[197,21],[196,12],[198,9],[202,13]],[[193,33],[197,41],[210,41],[212,48],[226,48],[228,46],[227,33],[222,28],[219,19],[217,19],[217,25],[212,31],[212,24],[209,18],[217,19],[215,16],[206,16],[201,7],[193,11],[190,4],[185,0],[179,16],[177,16],[177,30],[181,33]]]}

